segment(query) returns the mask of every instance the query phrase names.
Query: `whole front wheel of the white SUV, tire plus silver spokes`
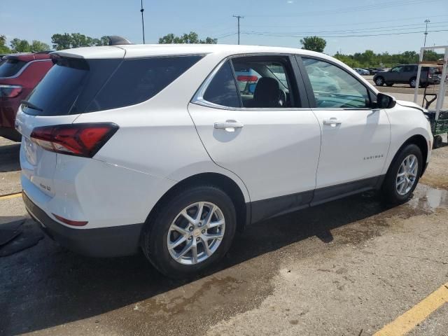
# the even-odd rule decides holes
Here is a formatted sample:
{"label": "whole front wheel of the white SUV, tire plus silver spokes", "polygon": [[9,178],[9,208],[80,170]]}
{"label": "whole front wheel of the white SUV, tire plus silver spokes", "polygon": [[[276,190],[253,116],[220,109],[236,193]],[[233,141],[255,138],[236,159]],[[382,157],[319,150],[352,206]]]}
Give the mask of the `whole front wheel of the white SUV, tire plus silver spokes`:
{"label": "whole front wheel of the white SUV, tire plus silver spokes", "polygon": [[[406,176],[405,174],[405,176],[399,177],[398,174],[403,174],[402,164],[405,159],[408,158],[415,158],[416,163],[418,164],[417,167],[414,166],[414,172],[412,172],[415,176],[409,178],[409,176]],[[384,197],[384,201],[388,204],[402,204],[407,202],[414,192],[417,183],[419,183],[421,169],[423,169],[423,155],[421,154],[419,146],[408,144],[403,147],[400,152],[395,155],[386,174],[386,178],[383,181],[381,193]],[[400,183],[403,179],[405,182]],[[412,185],[409,186],[409,182],[407,181],[412,179]],[[402,186],[403,184],[405,184],[405,186]],[[399,192],[400,188],[402,188],[401,193]]]}

